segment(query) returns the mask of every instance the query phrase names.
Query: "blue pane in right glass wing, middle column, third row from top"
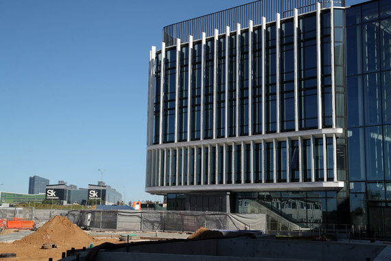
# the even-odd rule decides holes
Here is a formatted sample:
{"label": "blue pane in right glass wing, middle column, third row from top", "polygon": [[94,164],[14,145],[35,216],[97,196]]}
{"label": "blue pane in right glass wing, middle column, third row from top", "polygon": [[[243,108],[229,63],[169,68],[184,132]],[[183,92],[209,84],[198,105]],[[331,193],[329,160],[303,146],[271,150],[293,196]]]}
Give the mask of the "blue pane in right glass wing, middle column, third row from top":
{"label": "blue pane in right glass wing, middle column, third row from top", "polygon": [[381,123],[381,93],[379,73],[364,76],[365,124]]}

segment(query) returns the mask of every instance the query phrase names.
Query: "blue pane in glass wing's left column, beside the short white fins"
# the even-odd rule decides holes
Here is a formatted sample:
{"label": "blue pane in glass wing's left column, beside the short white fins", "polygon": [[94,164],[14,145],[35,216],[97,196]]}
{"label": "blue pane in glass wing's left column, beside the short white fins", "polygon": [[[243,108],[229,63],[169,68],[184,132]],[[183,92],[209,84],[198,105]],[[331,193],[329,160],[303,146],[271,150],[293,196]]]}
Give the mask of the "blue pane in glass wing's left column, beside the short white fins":
{"label": "blue pane in glass wing's left column, beside the short white fins", "polygon": [[365,181],[364,128],[348,130],[349,179]]}

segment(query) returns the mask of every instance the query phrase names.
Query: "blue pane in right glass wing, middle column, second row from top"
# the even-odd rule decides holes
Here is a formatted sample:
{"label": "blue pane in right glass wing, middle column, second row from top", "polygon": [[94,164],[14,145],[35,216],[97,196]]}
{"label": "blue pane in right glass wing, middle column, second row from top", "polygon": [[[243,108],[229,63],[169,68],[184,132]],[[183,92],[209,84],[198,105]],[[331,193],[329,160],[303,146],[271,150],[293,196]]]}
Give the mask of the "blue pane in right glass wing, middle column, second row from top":
{"label": "blue pane in right glass wing, middle column, second row from top", "polygon": [[364,71],[379,70],[379,23],[362,25],[362,57]]}

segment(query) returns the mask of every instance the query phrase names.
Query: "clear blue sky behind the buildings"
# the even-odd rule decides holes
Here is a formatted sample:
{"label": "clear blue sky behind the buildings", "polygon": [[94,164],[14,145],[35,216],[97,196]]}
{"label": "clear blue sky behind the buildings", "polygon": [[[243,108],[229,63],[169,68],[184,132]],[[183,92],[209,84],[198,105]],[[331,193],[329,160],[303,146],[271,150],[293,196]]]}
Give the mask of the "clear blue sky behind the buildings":
{"label": "clear blue sky behind the buildings", "polygon": [[[147,71],[163,26],[250,1],[0,0],[0,191],[29,176],[144,192]],[[361,1],[346,1],[346,5]]]}

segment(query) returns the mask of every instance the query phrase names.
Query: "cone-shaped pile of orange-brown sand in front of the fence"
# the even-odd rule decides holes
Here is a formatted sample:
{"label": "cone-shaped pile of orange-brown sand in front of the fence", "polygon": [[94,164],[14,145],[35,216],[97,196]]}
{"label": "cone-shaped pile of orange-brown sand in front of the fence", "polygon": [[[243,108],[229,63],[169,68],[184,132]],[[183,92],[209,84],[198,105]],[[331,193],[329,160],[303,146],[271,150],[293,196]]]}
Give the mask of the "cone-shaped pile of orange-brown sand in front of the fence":
{"label": "cone-shaped pile of orange-brown sand in front of the fence", "polygon": [[[21,240],[16,241],[16,245],[42,245],[48,244],[46,232],[49,234],[51,243],[57,245],[64,244],[80,244],[84,243],[88,245],[89,242],[93,241],[93,237],[89,236],[80,227],[71,223],[68,218],[64,216],[55,216],[49,220],[45,225],[40,227],[33,234],[25,236]],[[43,238],[45,241],[43,242]]]}

